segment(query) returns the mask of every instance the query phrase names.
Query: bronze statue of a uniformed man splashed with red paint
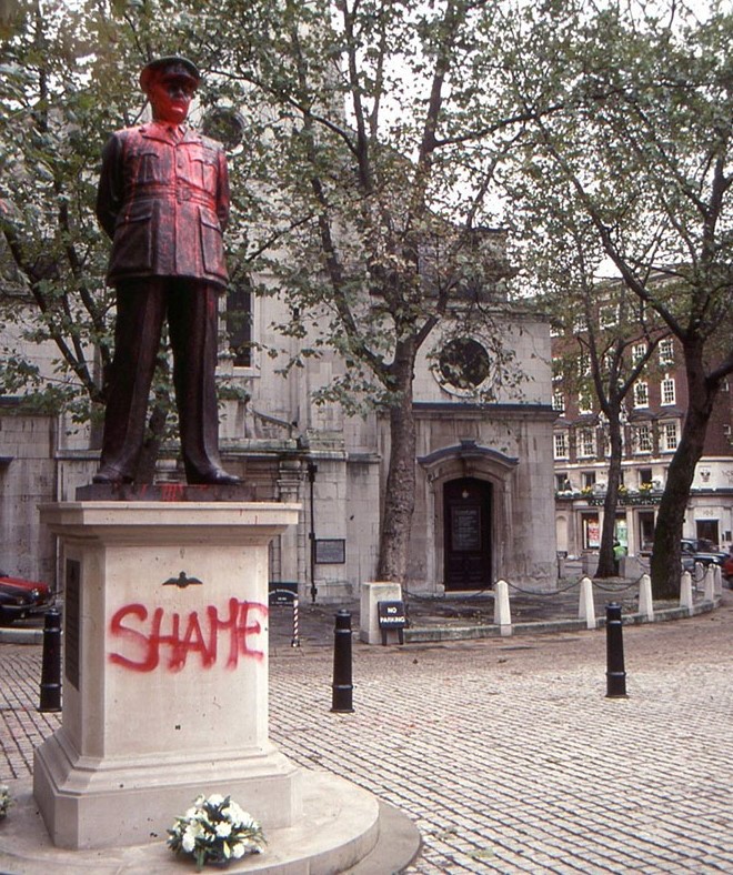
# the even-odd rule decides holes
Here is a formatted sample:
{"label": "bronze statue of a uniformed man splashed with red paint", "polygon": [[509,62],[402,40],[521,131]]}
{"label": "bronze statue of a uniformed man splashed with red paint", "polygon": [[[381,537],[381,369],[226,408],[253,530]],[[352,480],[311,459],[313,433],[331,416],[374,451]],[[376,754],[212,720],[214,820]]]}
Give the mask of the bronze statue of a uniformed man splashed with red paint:
{"label": "bronze statue of a uniformed man splashed with red paint", "polygon": [[117,324],[94,483],[134,481],[165,316],[187,481],[239,482],[219,459],[214,381],[229,179],[221,145],[184,125],[199,81],[185,58],[149,63],[152,122],[117,131],[102,153],[97,217],[112,239]]}

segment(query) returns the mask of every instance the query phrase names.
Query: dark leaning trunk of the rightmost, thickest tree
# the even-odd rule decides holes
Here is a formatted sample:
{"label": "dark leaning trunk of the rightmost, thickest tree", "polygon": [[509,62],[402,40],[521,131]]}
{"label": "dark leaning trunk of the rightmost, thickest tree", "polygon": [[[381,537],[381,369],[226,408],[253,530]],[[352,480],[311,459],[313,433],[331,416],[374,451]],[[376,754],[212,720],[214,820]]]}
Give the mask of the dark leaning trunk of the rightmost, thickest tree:
{"label": "dark leaning trunk of the rightmost, thickest tree", "polygon": [[705,432],[713,411],[719,383],[705,378],[702,344],[685,344],[687,415],[662,494],[652,551],[651,576],[655,599],[680,597],[680,541],[695,466],[703,454]]}

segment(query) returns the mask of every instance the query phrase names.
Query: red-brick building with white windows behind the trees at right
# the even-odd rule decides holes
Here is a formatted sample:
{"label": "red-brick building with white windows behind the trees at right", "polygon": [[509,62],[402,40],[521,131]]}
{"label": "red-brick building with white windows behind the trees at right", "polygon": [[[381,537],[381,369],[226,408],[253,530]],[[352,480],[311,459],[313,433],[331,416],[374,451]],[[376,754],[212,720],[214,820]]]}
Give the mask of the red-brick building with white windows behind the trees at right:
{"label": "red-brick building with white windows behind the trees at right", "polygon": [[[644,344],[631,345],[631,355]],[[553,339],[553,356],[566,340]],[[553,383],[558,413],[553,434],[558,550],[569,555],[600,546],[608,477],[608,426],[590,393],[573,392],[562,378]],[[616,536],[630,554],[651,550],[657,505],[666,472],[684,423],[687,384],[682,349],[662,340],[647,362],[623,416],[622,486],[616,509]],[[707,428],[704,455],[697,464],[683,534],[727,546],[733,542],[733,393],[725,381]]]}

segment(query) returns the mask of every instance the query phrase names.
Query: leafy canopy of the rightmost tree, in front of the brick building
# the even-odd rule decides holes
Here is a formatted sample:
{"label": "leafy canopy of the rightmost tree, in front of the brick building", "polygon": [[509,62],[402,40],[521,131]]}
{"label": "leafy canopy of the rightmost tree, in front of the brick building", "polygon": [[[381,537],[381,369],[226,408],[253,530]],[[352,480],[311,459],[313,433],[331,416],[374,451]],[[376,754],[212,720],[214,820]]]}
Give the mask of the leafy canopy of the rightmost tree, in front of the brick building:
{"label": "leafy canopy of the rightmost tree, in front of the brick building", "polygon": [[[592,270],[606,259],[679,338],[719,336],[733,279],[733,17],[715,4],[699,21],[682,4],[570,3],[528,8],[523,23],[534,51],[514,99],[538,123],[512,193],[535,233],[580,224]],[[732,346],[719,353],[733,366]]]}

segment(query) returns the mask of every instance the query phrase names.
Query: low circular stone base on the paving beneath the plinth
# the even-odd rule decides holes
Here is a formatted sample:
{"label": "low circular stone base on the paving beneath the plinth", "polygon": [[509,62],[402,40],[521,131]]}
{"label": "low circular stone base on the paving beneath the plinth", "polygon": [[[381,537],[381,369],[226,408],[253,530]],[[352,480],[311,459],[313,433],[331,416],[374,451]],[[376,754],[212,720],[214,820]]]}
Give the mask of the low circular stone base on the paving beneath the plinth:
{"label": "low circular stone base on the paving beneath the plinth", "polygon": [[[16,785],[12,789],[16,804],[0,822],[0,872],[3,874],[150,875],[154,872],[155,875],[180,875],[194,869],[192,857],[171,853],[165,835],[130,847],[57,848],[51,844],[30,786]],[[404,815],[391,806],[380,805],[371,793],[323,772],[308,773],[303,782],[303,818],[292,826],[267,833],[268,844],[262,854],[232,859],[225,871],[325,875],[357,867],[366,873],[372,868],[369,861],[379,857],[381,848],[382,855],[399,857],[390,859],[386,869],[382,871],[399,872],[411,862],[420,846],[419,833]],[[171,825],[175,814],[171,816]],[[399,841],[389,841],[390,834]]]}

